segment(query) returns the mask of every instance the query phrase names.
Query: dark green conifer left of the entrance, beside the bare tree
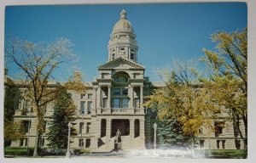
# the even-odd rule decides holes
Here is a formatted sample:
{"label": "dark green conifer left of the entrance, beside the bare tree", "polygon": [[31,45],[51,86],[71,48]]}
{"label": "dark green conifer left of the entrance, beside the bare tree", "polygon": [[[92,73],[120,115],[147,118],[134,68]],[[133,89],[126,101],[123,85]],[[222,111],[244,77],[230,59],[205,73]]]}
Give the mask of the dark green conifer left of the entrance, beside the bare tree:
{"label": "dark green conifer left of the entrance, beside the bare tree", "polygon": [[[49,123],[49,147],[52,149],[67,149],[68,122],[75,121],[76,106],[67,90],[62,90],[54,102],[54,115]],[[72,128],[71,135],[77,135]]]}

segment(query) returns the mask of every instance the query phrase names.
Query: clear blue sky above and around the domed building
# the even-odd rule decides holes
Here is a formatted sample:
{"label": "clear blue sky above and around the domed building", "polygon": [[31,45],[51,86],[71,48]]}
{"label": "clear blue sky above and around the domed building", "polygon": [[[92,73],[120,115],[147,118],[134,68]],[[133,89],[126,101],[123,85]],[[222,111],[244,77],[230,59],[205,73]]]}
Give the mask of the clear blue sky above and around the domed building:
{"label": "clear blue sky above and around the domed building", "polygon": [[[96,67],[108,60],[109,36],[123,8],[137,35],[138,62],[151,81],[160,81],[154,71],[170,66],[172,59],[199,59],[202,48],[214,49],[214,31],[247,26],[246,3],[11,6],[5,10],[5,35],[32,42],[70,39],[78,59],[55,70],[55,78],[65,81],[80,70],[85,81],[92,81]],[[10,76],[17,73],[13,63],[7,65]]]}

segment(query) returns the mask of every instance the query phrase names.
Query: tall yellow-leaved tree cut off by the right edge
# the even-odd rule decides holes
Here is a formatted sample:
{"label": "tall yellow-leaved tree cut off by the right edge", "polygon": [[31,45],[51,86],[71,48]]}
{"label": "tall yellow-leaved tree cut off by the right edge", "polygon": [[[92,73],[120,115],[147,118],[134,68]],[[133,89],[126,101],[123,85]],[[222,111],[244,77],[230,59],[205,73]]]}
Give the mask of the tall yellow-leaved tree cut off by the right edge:
{"label": "tall yellow-leaved tree cut off by the right edge", "polygon": [[[244,143],[247,157],[247,28],[212,34],[215,52],[203,49],[209,78],[202,80],[220,106],[228,110]],[[243,132],[240,124],[245,126]]]}

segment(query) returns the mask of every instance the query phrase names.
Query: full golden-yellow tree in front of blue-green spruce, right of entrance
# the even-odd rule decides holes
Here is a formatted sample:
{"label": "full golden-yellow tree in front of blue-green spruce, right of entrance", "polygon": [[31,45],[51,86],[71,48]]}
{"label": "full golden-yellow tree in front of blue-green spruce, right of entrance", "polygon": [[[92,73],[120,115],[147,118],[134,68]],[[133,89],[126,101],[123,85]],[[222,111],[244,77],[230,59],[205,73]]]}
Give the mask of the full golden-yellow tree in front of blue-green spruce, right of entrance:
{"label": "full golden-yellow tree in front of blue-green spruce, right of entrance", "polygon": [[156,108],[160,121],[180,123],[183,134],[191,138],[194,146],[202,126],[212,130],[212,121],[217,118],[215,113],[219,108],[197,80],[195,68],[189,65],[189,62],[178,63],[176,70],[164,71],[166,87],[155,90],[146,105]]}

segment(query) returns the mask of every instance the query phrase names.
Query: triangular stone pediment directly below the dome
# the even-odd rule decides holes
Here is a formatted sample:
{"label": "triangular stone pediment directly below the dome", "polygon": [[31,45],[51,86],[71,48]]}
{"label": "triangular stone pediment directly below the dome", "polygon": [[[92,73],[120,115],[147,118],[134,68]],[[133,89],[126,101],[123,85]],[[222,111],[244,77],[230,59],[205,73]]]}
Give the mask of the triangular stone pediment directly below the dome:
{"label": "triangular stone pediment directly below the dome", "polygon": [[101,69],[115,69],[115,70],[129,70],[129,69],[145,69],[143,65],[139,65],[131,60],[118,58],[107,62],[104,65],[100,65],[98,70]]}

